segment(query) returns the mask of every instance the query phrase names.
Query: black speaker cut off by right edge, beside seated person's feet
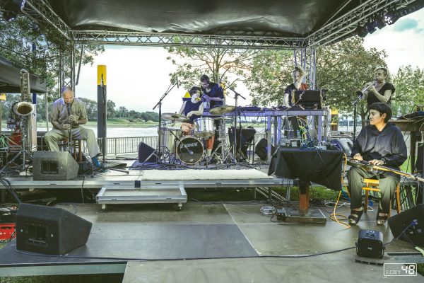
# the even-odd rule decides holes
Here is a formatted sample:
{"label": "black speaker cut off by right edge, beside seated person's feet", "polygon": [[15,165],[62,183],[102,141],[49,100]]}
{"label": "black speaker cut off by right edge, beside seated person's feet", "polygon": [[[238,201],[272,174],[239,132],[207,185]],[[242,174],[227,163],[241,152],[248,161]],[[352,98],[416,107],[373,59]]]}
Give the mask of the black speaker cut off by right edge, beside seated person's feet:
{"label": "black speaker cut off by right edge, beside seated person's feet", "polygon": [[388,222],[395,238],[401,236],[404,241],[409,238],[416,246],[424,247],[424,204],[391,216]]}

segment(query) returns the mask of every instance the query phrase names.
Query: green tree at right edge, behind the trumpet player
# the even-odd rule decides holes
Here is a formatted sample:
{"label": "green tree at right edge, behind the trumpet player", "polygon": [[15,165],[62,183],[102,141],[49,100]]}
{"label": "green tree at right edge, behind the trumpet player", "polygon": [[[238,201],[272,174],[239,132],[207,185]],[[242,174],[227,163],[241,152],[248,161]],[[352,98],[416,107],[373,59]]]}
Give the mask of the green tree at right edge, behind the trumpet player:
{"label": "green tree at right edge, behind the trumpet player", "polygon": [[393,77],[396,88],[392,99],[393,115],[401,116],[416,111],[415,105],[424,105],[424,69],[402,66]]}

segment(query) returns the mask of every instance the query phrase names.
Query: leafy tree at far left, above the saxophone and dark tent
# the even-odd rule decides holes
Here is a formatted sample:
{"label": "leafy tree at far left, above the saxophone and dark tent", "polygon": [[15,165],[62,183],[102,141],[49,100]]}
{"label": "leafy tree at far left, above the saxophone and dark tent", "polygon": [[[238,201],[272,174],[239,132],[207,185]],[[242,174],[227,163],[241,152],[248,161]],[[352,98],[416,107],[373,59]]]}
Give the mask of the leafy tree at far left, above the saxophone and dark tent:
{"label": "leafy tree at far left, above the saxophone and dark tent", "polygon": [[[72,48],[76,46],[51,26],[39,26],[23,14],[6,21],[0,12],[0,56],[40,76],[50,96],[59,93],[59,63],[61,57],[69,57]],[[93,64],[95,55],[104,51],[102,45],[86,45],[84,49],[82,64]],[[76,54],[79,62],[78,50]]]}

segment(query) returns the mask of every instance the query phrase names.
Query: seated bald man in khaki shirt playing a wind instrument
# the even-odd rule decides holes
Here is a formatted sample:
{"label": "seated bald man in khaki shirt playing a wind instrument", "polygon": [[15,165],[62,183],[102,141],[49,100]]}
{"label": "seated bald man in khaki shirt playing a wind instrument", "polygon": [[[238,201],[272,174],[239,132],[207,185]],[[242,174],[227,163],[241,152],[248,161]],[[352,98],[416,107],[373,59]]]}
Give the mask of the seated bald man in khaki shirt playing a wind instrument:
{"label": "seated bald man in khaki shirt playing a wind instrument", "polygon": [[[70,113],[68,113],[68,108]],[[71,88],[64,88],[62,97],[54,101],[52,106],[51,121],[53,129],[45,134],[45,141],[49,151],[59,151],[57,141],[68,138],[71,130],[72,139],[83,139],[87,142],[88,154],[93,165],[100,167],[98,156],[100,148],[95,139],[93,129],[86,129],[81,125],[87,123],[87,110],[82,100],[74,98]]]}

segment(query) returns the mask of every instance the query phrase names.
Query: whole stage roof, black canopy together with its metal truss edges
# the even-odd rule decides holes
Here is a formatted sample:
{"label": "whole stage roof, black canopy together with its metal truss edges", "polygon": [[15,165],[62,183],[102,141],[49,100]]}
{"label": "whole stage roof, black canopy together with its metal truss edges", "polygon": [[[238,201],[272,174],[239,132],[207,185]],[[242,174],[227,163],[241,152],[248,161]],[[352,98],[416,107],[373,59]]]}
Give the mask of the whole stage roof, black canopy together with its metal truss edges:
{"label": "whole stage roof, black canopy together with its metal truss edges", "polygon": [[54,26],[68,40],[88,44],[302,48],[331,44],[365,25],[382,28],[388,12],[396,11],[399,18],[422,8],[423,2],[27,0],[22,11]]}

